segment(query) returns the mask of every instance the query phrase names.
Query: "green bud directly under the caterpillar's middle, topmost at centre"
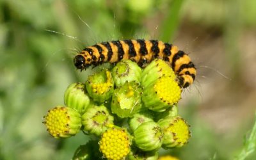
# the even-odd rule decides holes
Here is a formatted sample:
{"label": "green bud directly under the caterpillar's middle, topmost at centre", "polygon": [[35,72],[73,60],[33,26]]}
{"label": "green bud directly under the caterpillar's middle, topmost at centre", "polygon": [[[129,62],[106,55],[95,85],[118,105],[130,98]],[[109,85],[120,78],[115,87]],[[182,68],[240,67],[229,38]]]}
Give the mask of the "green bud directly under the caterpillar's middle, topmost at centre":
{"label": "green bud directly under the caterpillar's middle, topmost at centre", "polygon": [[124,85],[125,82],[136,81],[136,83],[140,83],[141,68],[131,60],[120,61],[111,73],[117,87]]}

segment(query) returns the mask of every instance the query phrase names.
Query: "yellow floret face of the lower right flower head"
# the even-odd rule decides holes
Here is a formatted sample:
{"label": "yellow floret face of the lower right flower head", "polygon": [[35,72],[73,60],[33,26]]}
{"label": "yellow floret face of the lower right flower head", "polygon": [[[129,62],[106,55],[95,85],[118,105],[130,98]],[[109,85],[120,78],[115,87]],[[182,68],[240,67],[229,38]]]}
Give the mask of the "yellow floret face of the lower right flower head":
{"label": "yellow floret face of the lower right flower head", "polygon": [[189,125],[183,118],[177,117],[172,124],[166,129],[173,133],[173,139],[180,145],[188,143],[190,138]]}

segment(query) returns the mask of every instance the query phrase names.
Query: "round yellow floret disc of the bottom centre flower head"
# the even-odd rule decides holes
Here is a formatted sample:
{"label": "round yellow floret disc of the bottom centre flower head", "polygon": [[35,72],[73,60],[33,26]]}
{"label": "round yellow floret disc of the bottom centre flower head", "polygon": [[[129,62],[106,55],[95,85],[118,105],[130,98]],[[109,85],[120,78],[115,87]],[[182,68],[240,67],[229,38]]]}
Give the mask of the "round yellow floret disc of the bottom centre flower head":
{"label": "round yellow floret disc of the bottom centre flower head", "polygon": [[129,135],[124,129],[108,129],[102,134],[99,146],[107,159],[124,159],[130,152]]}

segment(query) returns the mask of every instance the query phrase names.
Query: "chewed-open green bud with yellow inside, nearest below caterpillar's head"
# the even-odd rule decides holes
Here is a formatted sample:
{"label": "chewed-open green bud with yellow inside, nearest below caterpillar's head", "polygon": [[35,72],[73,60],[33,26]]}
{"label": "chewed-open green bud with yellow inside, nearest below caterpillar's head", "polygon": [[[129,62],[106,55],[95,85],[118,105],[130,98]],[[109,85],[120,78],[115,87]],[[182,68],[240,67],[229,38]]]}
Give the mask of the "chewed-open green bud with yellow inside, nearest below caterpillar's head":
{"label": "chewed-open green bud with yellow inside, nearest below caterpillar's head", "polygon": [[100,103],[108,100],[114,90],[114,81],[109,70],[89,76],[85,84],[90,97]]}

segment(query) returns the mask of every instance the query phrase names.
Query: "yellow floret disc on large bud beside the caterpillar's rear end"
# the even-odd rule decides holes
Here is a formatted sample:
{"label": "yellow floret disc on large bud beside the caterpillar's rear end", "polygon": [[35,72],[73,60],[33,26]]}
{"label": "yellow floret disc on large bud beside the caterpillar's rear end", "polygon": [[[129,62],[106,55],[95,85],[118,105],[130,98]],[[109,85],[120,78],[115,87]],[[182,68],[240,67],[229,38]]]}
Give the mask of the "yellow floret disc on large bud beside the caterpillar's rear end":
{"label": "yellow floret disc on large bud beside the caterpillar's rear end", "polygon": [[171,76],[163,76],[154,84],[157,97],[167,104],[176,104],[180,99],[180,87]]}

